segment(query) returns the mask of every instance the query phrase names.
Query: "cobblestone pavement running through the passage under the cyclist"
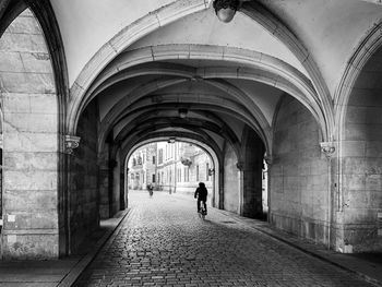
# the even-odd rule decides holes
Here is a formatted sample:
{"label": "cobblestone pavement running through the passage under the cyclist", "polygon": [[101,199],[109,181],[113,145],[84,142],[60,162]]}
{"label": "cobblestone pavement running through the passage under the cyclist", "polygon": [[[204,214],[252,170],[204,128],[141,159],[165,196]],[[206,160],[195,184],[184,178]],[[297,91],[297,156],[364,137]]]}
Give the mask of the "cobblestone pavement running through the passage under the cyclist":
{"label": "cobblestone pavement running through the passage under the cyclist", "polygon": [[130,192],[132,211],[75,286],[372,286],[195,202]]}

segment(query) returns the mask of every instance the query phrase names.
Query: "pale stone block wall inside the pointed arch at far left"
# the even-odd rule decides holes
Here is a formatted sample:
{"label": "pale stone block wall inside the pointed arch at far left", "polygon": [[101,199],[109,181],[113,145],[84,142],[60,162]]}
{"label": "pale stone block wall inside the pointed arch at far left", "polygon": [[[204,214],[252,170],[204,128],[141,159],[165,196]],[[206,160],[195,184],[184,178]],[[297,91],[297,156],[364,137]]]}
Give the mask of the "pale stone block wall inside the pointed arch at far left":
{"label": "pale stone block wall inside the pointed arch at far left", "polygon": [[0,38],[3,259],[58,258],[58,103],[43,32],[28,10]]}

